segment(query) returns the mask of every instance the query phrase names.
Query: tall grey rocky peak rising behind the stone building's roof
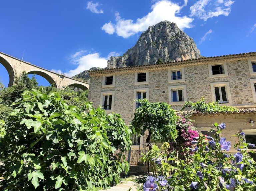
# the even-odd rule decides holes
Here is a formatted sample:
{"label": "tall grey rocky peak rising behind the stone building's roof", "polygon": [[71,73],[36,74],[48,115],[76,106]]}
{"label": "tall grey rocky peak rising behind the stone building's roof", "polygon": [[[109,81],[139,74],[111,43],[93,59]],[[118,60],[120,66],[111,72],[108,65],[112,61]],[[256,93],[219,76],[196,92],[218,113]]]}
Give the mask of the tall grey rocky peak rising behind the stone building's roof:
{"label": "tall grey rocky peak rising behind the stone building's roof", "polygon": [[158,58],[163,62],[199,58],[200,51],[195,42],[175,23],[162,21],[143,32],[136,45],[122,56],[112,56],[107,68],[155,64]]}

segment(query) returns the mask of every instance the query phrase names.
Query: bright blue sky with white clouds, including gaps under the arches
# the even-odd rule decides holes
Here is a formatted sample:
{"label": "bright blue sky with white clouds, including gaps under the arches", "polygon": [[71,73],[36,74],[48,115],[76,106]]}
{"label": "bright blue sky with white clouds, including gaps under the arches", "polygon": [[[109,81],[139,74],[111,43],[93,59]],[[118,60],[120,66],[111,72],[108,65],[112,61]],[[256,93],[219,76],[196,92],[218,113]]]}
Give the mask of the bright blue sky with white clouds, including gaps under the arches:
{"label": "bright blue sky with white clouds, including gaps under the arches", "polygon": [[[255,0],[8,0],[1,2],[0,51],[73,76],[122,55],[149,26],[176,22],[201,55],[256,51]],[[40,85],[48,85],[37,77]],[[0,80],[8,73],[0,64]]]}

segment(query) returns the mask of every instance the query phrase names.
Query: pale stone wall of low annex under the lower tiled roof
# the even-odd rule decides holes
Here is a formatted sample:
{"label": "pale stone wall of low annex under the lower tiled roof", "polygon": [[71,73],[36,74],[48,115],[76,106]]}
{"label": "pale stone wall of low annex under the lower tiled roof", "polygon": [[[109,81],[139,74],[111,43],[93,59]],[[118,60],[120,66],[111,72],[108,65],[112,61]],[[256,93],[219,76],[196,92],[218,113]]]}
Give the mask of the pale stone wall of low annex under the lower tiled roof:
{"label": "pale stone wall of low annex under the lower tiled roof", "polygon": [[256,126],[251,126],[249,123],[250,120],[256,121],[255,114],[195,115],[191,119],[194,120],[194,126],[198,131],[209,131],[213,128],[214,123],[225,123],[226,129],[221,132],[221,137],[231,142],[231,149],[234,149],[234,144],[238,143],[237,137],[232,137],[232,135],[240,133],[242,129],[256,129]]}

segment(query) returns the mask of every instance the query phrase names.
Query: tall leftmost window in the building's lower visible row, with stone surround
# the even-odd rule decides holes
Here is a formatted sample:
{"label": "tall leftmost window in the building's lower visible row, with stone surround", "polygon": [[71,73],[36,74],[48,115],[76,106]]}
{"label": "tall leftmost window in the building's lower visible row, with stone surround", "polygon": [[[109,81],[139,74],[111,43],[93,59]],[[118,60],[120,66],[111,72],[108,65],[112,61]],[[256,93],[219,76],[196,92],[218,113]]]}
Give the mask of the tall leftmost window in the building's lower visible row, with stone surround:
{"label": "tall leftmost window in the building's lower visible row, with stone surround", "polygon": [[100,105],[107,112],[114,111],[114,91],[101,92]]}

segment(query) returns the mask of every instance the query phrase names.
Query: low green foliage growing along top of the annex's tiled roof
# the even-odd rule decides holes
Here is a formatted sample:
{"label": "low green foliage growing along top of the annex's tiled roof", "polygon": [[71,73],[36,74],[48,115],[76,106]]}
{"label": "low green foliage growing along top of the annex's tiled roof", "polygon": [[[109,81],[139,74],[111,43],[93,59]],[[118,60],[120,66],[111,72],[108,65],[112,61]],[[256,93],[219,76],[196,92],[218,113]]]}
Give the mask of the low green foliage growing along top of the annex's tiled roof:
{"label": "low green foliage growing along top of the annex's tiled roof", "polygon": [[206,103],[204,98],[201,98],[199,101],[197,101],[195,103],[186,101],[181,110],[185,109],[186,107],[191,107],[193,111],[198,111],[201,113],[221,112],[221,111],[226,111],[226,112],[238,111],[237,108],[234,108],[231,106],[220,106],[218,102]]}

